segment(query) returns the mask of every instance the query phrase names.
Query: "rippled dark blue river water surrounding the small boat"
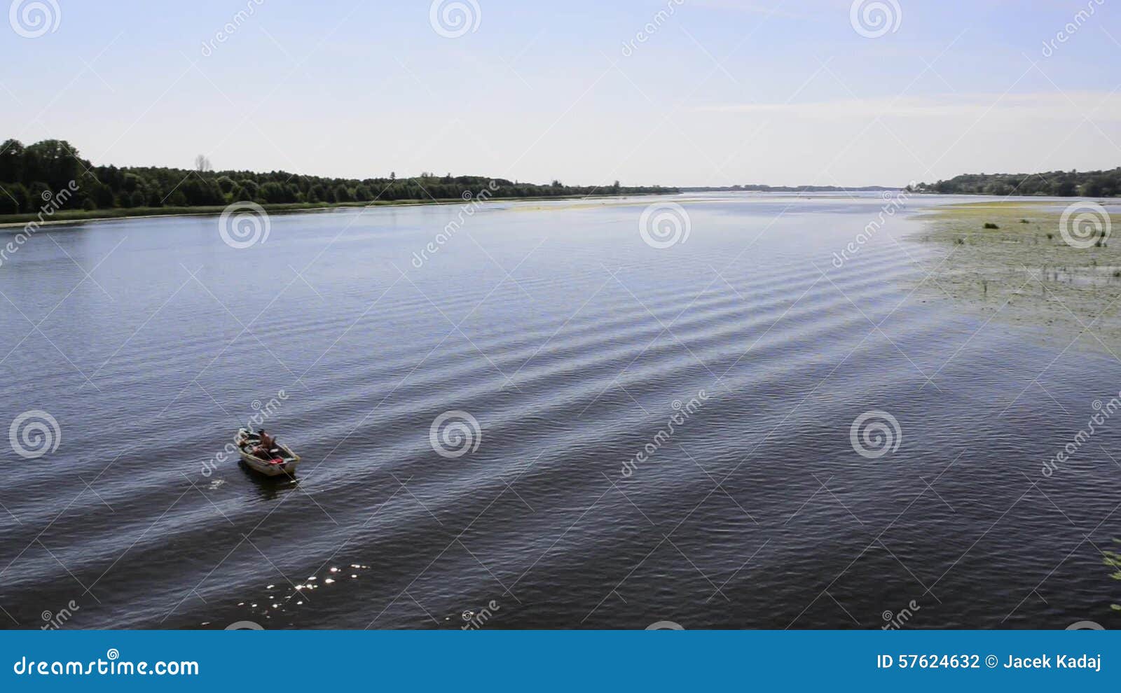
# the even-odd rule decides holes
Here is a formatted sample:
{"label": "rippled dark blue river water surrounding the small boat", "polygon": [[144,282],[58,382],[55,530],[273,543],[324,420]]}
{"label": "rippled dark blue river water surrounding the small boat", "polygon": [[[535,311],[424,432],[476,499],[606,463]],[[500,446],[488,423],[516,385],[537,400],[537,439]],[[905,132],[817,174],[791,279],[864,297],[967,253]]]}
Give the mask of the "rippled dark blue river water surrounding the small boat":
{"label": "rippled dark blue river water surrounding the small boat", "polygon": [[[1121,363],[918,285],[944,198],[840,269],[879,196],[666,199],[665,249],[651,198],[40,231],[0,266],[0,413],[57,449],[2,449],[0,622],[1121,625],[1121,424],[1040,472]],[[215,461],[259,410],[298,481]]]}

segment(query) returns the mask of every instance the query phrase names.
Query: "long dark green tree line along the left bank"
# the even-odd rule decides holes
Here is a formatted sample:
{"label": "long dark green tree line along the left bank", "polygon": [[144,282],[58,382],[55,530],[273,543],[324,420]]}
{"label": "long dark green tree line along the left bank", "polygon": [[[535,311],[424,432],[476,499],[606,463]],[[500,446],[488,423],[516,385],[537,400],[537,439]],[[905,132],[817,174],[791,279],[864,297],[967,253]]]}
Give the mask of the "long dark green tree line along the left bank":
{"label": "long dark green tree line along the left bank", "polygon": [[[287,171],[214,171],[200,156],[193,169],[93,166],[66,140],[0,144],[0,214],[31,214],[55,191],[77,181],[68,208],[114,209],[222,206],[248,200],[268,204],[337,204],[374,200],[463,198],[491,190],[492,197],[556,197],[675,193],[661,186],[566,186],[559,180],[535,185],[482,176],[413,178],[327,178]],[[493,180],[493,185],[491,181]]]}

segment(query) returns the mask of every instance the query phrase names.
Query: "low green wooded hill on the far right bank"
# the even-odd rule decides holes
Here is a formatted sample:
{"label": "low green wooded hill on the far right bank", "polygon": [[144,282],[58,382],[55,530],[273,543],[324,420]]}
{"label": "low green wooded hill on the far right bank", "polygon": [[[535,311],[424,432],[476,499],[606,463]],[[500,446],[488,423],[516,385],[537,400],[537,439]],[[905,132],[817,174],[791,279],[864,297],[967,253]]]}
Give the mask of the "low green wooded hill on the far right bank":
{"label": "low green wooded hill on the far right bank", "polygon": [[946,195],[1046,195],[1054,197],[1121,197],[1121,168],[1109,171],[1047,174],[966,174],[908,189]]}

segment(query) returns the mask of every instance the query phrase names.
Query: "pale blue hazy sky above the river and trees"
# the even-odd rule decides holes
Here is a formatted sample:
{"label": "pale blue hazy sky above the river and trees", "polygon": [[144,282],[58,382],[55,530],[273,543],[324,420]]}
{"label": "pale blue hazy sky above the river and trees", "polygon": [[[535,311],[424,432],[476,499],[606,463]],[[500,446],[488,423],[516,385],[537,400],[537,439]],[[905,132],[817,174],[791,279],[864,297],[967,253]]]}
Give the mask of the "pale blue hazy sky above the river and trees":
{"label": "pale blue hazy sky above the river and trees", "polygon": [[0,3],[0,139],[99,165],[665,186],[1121,166],[1118,0]]}

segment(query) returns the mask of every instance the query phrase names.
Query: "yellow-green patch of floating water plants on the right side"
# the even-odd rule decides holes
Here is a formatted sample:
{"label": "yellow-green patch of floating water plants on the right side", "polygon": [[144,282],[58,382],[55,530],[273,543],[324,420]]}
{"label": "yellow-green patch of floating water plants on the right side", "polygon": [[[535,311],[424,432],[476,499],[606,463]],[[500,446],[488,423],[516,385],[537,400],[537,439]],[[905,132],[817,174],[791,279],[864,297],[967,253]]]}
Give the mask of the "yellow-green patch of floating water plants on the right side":
{"label": "yellow-green patch of floating water plants on the right side", "polygon": [[[939,207],[920,217],[919,238],[938,244],[925,285],[993,317],[1038,328],[1065,347],[1076,340],[1121,355],[1121,240],[1066,242],[1065,205],[986,202]],[[937,268],[937,269],[936,269]],[[986,316],[988,317],[988,316]]]}

